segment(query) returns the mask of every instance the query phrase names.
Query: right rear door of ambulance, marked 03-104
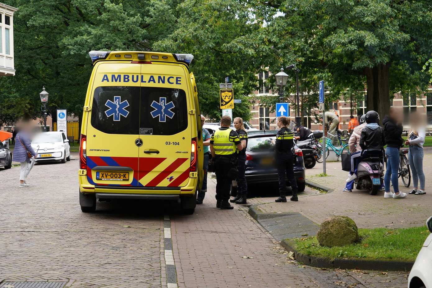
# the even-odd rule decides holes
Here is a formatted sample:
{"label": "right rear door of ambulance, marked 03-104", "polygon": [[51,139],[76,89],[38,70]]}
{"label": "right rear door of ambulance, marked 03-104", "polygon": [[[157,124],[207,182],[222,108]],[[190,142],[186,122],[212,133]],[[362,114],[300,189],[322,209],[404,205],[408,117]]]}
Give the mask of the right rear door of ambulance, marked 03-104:
{"label": "right rear door of ambulance, marked 03-104", "polygon": [[191,167],[187,69],[141,64],[139,182],[152,193],[180,193]]}

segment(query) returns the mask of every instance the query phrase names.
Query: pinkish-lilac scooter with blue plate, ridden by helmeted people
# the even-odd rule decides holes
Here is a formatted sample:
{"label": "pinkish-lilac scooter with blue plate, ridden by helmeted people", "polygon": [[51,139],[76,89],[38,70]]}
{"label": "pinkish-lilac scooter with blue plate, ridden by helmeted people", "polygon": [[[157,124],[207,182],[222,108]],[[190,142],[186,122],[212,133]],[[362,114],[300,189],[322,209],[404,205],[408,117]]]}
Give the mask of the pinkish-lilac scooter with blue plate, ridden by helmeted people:
{"label": "pinkish-lilac scooter with blue plate, ridden by helmeted people", "polygon": [[[369,194],[376,195],[382,184],[384,176],[383,151],[381,149],[368,149],[370,156],[357,165],[357,178],[354,180],[356,189],[368,190]],[[372,155],[373,154],[373,155]]]}

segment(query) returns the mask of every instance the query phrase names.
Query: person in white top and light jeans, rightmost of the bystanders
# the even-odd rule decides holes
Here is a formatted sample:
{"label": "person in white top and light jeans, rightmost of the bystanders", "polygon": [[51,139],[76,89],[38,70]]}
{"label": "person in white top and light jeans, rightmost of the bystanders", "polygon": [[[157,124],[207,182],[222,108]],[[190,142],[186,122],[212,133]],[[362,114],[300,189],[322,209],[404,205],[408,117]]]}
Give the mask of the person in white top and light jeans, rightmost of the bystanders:
{"label": "person in white top and light jeans, rightmost of the bystanders", "polygon": [[[414,189],[410,194],[423,195],[425,192],[425,174],[423,172],[423,144],[425,143],[426,130],[425,121],[422,114],[414,112],[410,115],[411,129],[405,145],[410,145],[408,160],[410,161],[411,172],[413,174]],[[420,189],[418,184],[420,180]]]}

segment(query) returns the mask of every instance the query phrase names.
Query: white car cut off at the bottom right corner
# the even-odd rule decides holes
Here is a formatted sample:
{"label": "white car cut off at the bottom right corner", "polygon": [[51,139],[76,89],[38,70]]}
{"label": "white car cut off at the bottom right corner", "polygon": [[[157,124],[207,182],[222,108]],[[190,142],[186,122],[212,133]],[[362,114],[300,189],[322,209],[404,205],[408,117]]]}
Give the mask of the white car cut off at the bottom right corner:
{"label": "white car cut off at the bottom right corner", "polygon": [[[432,233],[432,216],[426,221]],[[426,238],[408,277],[408,288],[432,288],[432,234]]]}

